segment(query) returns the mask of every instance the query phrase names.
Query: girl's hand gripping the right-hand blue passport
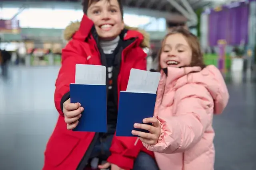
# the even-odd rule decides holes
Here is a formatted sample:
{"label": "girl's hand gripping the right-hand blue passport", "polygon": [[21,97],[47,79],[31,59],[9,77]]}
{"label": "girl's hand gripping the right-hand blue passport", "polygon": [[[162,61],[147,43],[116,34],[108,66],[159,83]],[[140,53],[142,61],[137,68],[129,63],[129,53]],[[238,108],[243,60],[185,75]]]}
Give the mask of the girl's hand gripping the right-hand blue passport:
{"label": "girl's hand gripping the right-hand blue passport", "polygon": [[148,145],[156,145],[161,132],[161,125],[158,119],[156,119],[155,117],[149,117],[143,119],[143,123],[152,123],[152,125],[135,123],[134,128],[148,130],[149,133],[133,130],[132,135],[139,136],[140,141],[147,143]]}

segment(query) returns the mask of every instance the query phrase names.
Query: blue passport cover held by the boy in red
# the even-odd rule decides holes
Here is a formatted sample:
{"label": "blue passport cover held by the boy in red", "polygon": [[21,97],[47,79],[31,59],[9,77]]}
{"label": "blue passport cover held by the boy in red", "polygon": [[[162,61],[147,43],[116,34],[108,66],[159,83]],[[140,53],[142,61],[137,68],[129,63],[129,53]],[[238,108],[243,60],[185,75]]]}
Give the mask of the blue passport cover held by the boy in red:
{"label": "blue passport cover held by the boy in red", "polygon": [[107,132],[106,85],[70,84],[70,101],[84,107],[73,131]]}

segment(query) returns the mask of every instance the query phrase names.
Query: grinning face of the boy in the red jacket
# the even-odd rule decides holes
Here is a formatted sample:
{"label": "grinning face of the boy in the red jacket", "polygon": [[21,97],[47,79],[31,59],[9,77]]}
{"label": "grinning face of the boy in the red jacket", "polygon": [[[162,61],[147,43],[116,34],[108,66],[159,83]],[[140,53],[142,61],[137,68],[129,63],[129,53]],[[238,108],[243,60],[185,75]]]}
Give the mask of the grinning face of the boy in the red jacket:
{"label": "grinning face of the boy in the red jacket", "polygon": [[124,29],[117,0],[100,0],[92,3],[87,10],[87,16],[94,22],[96,31],[103,40],[115,39]]}

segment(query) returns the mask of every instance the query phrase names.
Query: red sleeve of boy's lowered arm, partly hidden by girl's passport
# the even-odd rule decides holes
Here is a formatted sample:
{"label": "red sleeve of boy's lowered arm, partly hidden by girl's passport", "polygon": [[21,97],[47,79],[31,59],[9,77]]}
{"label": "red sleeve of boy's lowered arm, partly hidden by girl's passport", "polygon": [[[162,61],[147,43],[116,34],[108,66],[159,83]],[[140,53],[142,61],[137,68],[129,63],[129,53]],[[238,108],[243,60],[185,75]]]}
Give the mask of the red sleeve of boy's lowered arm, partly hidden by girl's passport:
{"label": "red sleeve of boy's lowered arm, partly hidden by girl's passport", "polygon": [[[140,51],[140,53],[142,55],[138,56],[138,60],[135,62],[133,68],[146,70],[147,55],[143,51]],[[108,157],[108,162],[116,164],[125,170],[130,170],[133,168],[134,159],[138,156],[143,147],[138,137],[116,137],[114,135],[110,147],[111,155]]]}

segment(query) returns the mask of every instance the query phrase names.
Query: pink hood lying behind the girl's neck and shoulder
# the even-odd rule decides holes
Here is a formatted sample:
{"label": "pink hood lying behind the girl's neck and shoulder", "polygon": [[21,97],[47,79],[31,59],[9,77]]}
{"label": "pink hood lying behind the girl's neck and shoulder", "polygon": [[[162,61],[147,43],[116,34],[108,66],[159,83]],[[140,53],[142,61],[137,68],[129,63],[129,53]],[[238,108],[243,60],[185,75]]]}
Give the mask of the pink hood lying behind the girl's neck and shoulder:
{"label": "pink hood lying behind the girl's neck and shoulder", "polygon": [[[164,75],[164,71],[161,70],[161,76]],[[228,104],[229,94],[226,83],[220,70],[213,65],[206,66],[204,69],[197,66],[184,68],[168,67],[166,84],[170,84],[174,80],[176,80],[174,88],[179,88],[188,83],[205,86],[214,99],[215,114],[221,114]]]}

